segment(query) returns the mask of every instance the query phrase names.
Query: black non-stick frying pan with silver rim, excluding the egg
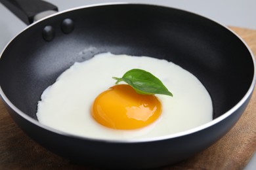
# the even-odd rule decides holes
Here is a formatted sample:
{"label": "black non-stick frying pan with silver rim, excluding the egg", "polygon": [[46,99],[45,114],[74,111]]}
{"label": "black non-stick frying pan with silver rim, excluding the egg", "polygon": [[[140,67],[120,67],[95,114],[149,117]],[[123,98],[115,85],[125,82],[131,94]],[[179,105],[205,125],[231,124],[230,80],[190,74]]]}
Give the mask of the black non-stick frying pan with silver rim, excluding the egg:
{"label": "black non-stick frying pan with silver rim, excluding the egg", "polygon": [[[15,7],[17,2],[1,1],[19,16],[24,11],[23,5]],[[20,18],[31,23],[35,14]],[[40,124],[35,112],[43,90],[75,61],[102,52],[181,65],[211,95],[213,121],[173,135],[119,141],[79,137]],[[236,124],[255,86],[255,61],[242,39],[203,16],[156,5],[91,5],[39,20],[12,39],[1,54],[0,85],[16,124],[52,152],[96,167],[154,168],[202,151]]]}

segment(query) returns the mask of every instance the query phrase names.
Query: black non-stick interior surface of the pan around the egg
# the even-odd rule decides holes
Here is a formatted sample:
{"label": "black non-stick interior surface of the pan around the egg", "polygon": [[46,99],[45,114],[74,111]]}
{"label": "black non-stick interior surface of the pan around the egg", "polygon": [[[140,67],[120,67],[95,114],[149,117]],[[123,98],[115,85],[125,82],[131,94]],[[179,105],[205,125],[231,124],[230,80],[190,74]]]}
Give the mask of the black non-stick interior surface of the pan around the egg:
{"label": "black non-stick interior surface of the pan around the egg", "polygon": [[[62,32],[66,18],[74,22],[71,33]],[[52,41],[42,37],[47,25],[54,29]],[[253,79],[251,54],[223,26],[177,9],[106,5],[64,12],[20,33],[1,56],[1,88],[18,109],[36,118],[43,90],[75,61],[100,52],[152,56],[181,65],[209,91],[214,118],[234,107]]]}

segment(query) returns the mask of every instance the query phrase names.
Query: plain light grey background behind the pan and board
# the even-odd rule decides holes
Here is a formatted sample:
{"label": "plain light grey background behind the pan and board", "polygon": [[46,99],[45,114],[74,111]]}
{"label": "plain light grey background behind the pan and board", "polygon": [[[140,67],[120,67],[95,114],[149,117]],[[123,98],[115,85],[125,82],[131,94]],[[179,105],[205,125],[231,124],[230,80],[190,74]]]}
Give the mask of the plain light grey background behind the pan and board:
{"label": "plain light grey background behind the pan and board", "polygon": [[[49,0],[49,2],[50,1],[58,6],[59,11],[95,3],[120,2],[115,0]],[[167,7],[188,10],[206,16],[223,25],[256,29],[256,0],[127,0],[125,2],[165,5]],[[0,4],[0,52],[5,48],[6,44],[24,28],[26,28],[26,25]],[[256,169],[256,154],[254,154],[247,167],[245,167],[245,170],[254,169]]]}

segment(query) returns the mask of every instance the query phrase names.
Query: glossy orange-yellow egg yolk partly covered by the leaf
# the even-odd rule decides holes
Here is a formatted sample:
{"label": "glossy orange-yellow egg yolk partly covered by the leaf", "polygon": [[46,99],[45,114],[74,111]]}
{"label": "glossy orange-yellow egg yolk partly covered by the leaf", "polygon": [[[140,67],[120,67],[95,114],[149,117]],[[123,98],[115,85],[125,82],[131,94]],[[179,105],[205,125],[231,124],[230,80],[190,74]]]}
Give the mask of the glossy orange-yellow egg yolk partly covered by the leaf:
{"label": "glossy orange-yellow egg yolk partly covered by the leaf", "polygon": [[93,118],[114,129],[137,129],[148,126],[161,114],[161,103],[154,95],[142,95],[120,84],[100,93],[92,107]]}

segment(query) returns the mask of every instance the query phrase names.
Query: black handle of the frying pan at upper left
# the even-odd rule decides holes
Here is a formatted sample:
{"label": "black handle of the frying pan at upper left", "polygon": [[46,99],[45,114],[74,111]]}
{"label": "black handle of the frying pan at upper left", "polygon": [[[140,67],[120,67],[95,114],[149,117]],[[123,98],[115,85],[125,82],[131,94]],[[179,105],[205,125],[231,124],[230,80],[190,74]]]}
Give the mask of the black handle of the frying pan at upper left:
{"label": "black handle of the frying pan at upper left", "polygon": [[0,0],[0,2],[28,25],[37,20],[35,16],[41,12],[49,11],[49,14],[53,11],[58,12],[55,5],[41,0]]}

